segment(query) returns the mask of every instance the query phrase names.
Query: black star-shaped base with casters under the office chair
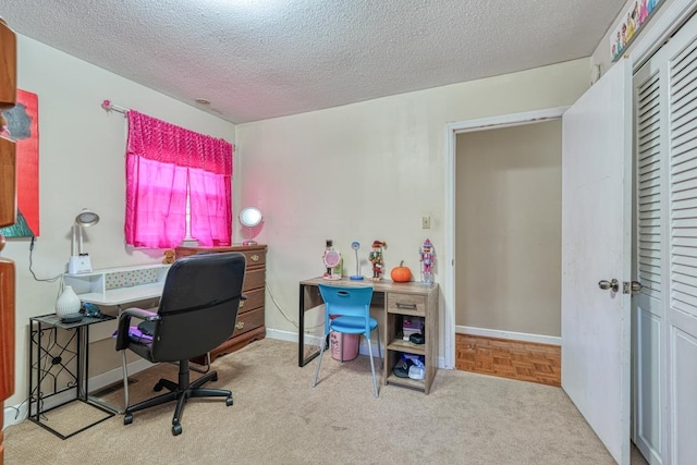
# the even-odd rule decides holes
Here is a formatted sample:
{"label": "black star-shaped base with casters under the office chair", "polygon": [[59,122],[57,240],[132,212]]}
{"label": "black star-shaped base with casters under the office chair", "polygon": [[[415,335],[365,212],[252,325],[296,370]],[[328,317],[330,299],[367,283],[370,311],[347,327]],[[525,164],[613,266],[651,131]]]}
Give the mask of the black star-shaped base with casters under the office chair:
{"label": "black star-shaped base with casters under the office chair", "polygon": [[184,405],[186,405],[189,397],[225,397],[227,406],[231,406],[233,404],[231,391],[224,389],[201,388],[201,386],[209,381],[218,381],[217,371],[208,371],[195,381],[189,382],[188,360],[182,360],[179,363],[179,383],[169,379],[160,378],[152,388],[155,392],[160,392],[163,388],[167,388],[170,392],[148,399],[147,401],[139,402],[135,405],[129,405],[129,374],[126,371],[125,352],[123,353],[123,386],[126,399],[126,406],[123,412],[124,425],[131,425],[133,423],[134,412],[176,401],[174,416],[172,417],[172,435],[179,436],[182,433],[182,413],[184,412]]}

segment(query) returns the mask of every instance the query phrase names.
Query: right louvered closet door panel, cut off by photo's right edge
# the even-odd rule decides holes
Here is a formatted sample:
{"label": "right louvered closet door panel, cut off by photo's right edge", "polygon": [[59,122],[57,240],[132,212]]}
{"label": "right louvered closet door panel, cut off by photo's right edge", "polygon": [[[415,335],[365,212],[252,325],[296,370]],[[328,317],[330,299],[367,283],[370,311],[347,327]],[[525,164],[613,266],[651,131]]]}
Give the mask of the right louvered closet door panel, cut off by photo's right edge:
{"label": "right louvered closet door panel, cut off by photo's right edge", "polygon": [[[697,463],[697,16],[665,46],[670,95],[668,455]],[[668,463],[668,462],[664,462]]]}

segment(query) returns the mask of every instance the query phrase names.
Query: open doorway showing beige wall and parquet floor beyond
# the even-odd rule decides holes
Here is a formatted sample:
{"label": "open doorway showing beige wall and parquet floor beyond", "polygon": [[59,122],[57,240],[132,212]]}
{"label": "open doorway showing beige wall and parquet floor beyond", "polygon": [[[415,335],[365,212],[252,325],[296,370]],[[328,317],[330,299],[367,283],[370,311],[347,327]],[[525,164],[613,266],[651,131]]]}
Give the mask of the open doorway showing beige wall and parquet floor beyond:
{"label": "open doorway showing beige wall and parquet floor beyond", "polygon": [[561,386],[561,134],[456,135],[457,369]]}

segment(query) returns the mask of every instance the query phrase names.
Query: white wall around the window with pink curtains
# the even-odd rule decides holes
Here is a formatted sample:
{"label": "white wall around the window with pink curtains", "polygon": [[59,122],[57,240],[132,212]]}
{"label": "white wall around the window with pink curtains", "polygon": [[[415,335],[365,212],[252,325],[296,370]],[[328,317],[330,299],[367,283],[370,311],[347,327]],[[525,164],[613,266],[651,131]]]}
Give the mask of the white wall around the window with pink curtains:
{"label": "white wall around the window with pink curtains", "polygon": [[[17,85],[37,94],[39,106],[40,236],[34,272],[46,279],[65,270],[70,228],[84,207],[101,217],[86,230],[85,249],[95,268],[159,262],[161,250],[124,245],[125,122],[120,113],[105,112],[101,101],[230,142],[234,126],[24,36],[17,37]],[[9,240],[2,255],[16,262],[17,277],[16,378],[9,406],[27,397],[28,318],[53,313],[59,284],[34,280],[27,240]]]}

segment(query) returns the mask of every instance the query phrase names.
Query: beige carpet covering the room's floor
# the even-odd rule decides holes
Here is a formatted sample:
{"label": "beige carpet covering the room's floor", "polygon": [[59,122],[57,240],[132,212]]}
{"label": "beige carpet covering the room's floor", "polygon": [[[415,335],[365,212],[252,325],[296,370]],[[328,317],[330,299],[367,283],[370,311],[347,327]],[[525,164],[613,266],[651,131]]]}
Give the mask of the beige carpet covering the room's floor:
{"label": "beige carpet covering the room's floor", "polygon": [[[612,464],[559,389],[439,370],[429,395],[380,386],[366,356],[297,367],[297,346],[265,339],[213,364],[222,399],[191,400],[173,437],[170,403],[114,416],[65,441],[25,420],[5,429],[5,464]],[[161,365],[137,374],[133,401],[152,395]],[[117,391],[105,400],[122,402]],[[78,415],[80,416],[80,415]]]}

